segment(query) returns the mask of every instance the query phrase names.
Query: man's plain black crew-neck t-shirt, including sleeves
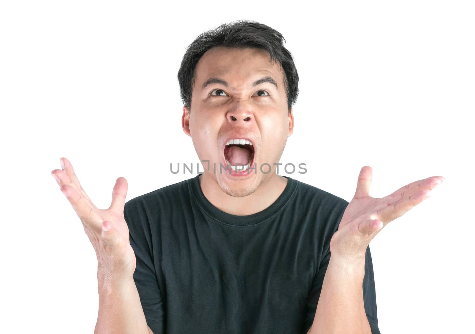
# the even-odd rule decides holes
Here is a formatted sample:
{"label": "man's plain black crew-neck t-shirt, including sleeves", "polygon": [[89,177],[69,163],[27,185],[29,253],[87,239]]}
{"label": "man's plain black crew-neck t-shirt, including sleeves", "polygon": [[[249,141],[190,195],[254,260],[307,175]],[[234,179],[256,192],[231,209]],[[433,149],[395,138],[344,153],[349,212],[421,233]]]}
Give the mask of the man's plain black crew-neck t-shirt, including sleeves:
{"label": "man's plain black crew-neck t-shirt, including sleeves", "polygon": [[[125,204],[133,278],[154,334],[308,331],[348,202],[285,177],[277,200],[246,216],[211,204],[199,175]],[[380,333],[369,247],[362,288]]]}

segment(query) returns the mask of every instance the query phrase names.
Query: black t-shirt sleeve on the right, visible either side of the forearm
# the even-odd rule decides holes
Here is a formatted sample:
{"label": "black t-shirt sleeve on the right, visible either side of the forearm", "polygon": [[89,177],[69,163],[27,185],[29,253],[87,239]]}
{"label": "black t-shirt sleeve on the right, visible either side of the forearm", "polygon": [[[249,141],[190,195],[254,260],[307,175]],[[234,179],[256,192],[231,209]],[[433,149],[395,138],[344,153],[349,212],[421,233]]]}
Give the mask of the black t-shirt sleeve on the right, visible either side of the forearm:
{"label": "black t-shirt sleeve on the right, visible either side of the forearm", "polygon": [[[314,283],[308,297],[306,307],[304,333],[307,333],[314,322],[315,311],[317,309],[318,299],[322,291],[323,278],[325,277],[326,269],[330,261],[330,252],[323,258],[317,274],[314,278]],[[378,315],[376,310],[376,291],[374,286],[373,263],[371,260],[370,246],[366,249],[366,257],[364,263],[364,278],[363,278],[363,302],[366,316],[371,327],[371,334],[380,334],[378,327]]]}

